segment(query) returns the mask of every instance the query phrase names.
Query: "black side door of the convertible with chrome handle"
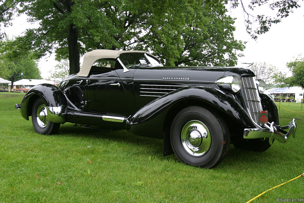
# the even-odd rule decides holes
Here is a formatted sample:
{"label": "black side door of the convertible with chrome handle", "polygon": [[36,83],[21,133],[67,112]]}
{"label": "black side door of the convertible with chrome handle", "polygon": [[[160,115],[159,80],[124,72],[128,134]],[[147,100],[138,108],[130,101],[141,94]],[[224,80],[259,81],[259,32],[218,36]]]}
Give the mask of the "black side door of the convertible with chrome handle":
{"label": "black side door of the convertible with chrome handle", "polygon": [[124,115],[127,110],[126,93],[118,74],[113,68],[102,68],[88,80],[90,110],[100,114]]}

